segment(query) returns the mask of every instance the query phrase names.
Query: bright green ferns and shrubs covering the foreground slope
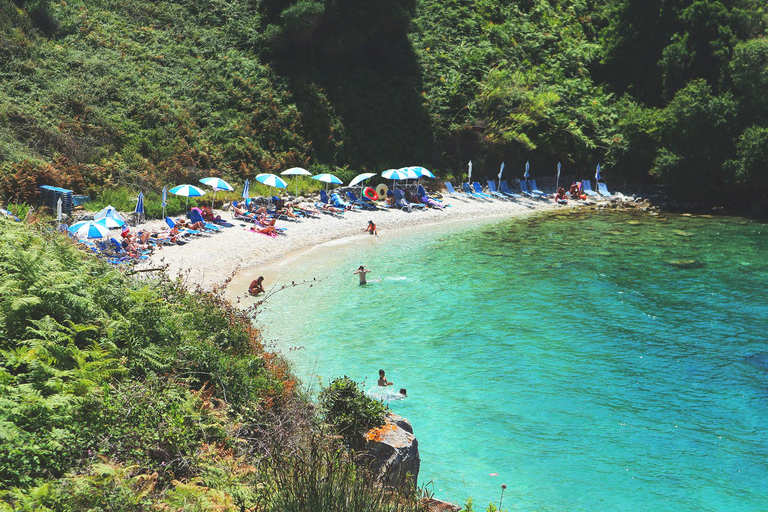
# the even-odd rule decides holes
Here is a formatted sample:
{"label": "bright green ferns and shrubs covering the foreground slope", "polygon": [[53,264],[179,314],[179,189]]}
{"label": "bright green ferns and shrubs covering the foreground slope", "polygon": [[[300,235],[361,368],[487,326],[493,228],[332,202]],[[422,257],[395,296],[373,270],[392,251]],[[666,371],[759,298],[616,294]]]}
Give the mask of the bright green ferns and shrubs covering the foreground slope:
{"label": "bright green ferns and shrubs covering the foreground slope", "polygon": [[0,218],[0,510],[417,508],[312,441],[294,388],[219,296]]}

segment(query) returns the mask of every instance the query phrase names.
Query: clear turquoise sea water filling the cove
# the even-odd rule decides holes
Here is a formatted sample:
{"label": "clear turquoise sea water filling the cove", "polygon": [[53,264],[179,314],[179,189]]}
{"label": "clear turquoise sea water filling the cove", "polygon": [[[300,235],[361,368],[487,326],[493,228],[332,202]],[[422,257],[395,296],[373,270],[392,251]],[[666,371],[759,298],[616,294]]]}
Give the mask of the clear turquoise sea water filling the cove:
{"label": "clear turquoise sea water filling the cove", "polygon": [[[437,497],[762,511],[767,250],[764,224],[634,213],[366,238],[296,270],[321,280],[261,319],[315,389],[376,391],[379,368],[408,389],[389,405]],[[381,280],[357,286],[363,263]]]}

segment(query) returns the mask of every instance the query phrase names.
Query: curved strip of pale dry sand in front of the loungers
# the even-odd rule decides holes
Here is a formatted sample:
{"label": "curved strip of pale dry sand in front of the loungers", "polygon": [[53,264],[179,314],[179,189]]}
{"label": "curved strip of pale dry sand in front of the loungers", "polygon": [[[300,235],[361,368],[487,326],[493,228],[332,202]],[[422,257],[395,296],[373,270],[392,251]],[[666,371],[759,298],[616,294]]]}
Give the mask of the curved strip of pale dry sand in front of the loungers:
{"label": "curved strip of pale dry sand in front of the loungers", "polygon": [[[321,214],[319,219],[302,219],[298,222],[278,221],[277,227],[287,228],[285,234],[276,238],[248,231],[252,224],[232,218],[230,212],[219,212],[224,220],[234,227],[223,228],[221,232],[206,237],[193,237],[189,243],[180,246],[166,246],[143,263],[144,267],[166,267],[171,276],[181,275],[187,285],[200,285],[210,289],[232,280],[233,286],[242,291],[251,276],[267,264],[284,260],[289,255],[316,247],[320,244],[348,237],[371,236],[365,233],[369,220],[378,227],[379,236],[392,236],[397,230],[414,226],[444,224],[452,222],[480,223],[494,218],[505,218],[562,208],[553,200],[501,199],[475,200],[445,197],[450,207],[444,210],[426,209],[413,212],[401,210],[348,211],[343,218]],[[569,206],[574,206],[573,201]],[[147,223],[149,229],[162,229],[159,221]],[[272,276],[274,277],[274,276]],[[239,293],[238,293],[239,294]],[[232,292],[227,293],[233,297]]]}

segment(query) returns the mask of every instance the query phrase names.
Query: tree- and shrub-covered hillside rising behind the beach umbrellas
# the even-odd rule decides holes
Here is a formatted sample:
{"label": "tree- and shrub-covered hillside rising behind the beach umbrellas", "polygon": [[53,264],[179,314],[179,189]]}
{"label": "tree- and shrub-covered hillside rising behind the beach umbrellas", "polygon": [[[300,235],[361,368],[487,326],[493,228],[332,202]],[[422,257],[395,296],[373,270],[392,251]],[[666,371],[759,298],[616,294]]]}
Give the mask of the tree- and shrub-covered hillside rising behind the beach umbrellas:
{"label": "tree- and shrub-covered hillside rising behind the beach umbrellas", "polygon": [[530,160],[729,202],[768,184],[766,17],[761,0],[3,2],[0,187]]}

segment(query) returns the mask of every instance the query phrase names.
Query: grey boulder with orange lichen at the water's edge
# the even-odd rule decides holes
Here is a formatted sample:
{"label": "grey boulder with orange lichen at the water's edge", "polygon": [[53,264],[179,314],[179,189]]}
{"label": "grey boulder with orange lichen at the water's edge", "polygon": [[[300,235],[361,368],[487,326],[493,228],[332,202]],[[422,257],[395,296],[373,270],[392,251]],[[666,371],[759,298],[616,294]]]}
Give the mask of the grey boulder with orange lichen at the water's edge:
{"label": "grey boulder with orange lichen at the water's edge", "polygon": [[380,482],[404,491],[416,488],[421,457],[408,420],[389,414],[384,425],[365,434],[365,440],[371,469]]}

